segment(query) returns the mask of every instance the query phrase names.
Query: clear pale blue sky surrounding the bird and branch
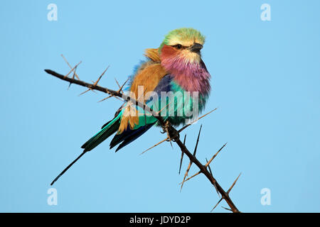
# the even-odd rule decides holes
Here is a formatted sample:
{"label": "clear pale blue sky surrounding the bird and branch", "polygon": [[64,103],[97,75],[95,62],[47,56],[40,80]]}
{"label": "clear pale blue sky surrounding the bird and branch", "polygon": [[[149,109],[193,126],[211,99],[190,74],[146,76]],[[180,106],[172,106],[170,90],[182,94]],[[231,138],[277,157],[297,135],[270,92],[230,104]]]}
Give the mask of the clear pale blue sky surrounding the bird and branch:
{"label": "clear pale blue sky surrounding the bird and branch", "polygon": [[[58,21],[48,21],[48,4]],[[270,4],[271,21],[260,19]],[[114,153],[107,140],[87,153],[54,188],[50,182],[109,121],[121,102],[48,76],[80,60],[80,79],[117,88],[145,48],[175,28],[206,35],[203,60],[213,91],[203,118],[198,159],[225,142],[211,168],[243,212],[320,211],[319,1],[4,1],[1,4],[2,212],[208,212],[219,197],[203,176],[178,183],[180,151],[169,143],[139,155],[164,135],[152,128]],[[196,143],[200,123],[188,128]],[[184,133],[183,133],[184,135]],[[183,162],[182,172],[188,165]],[[191,167],[191,173],[196,172]],[[261,189],[271,192],[262,206]],[[227,206],[224,202],[222,206]],[[220,206],[218,212],[225,212]]]}

